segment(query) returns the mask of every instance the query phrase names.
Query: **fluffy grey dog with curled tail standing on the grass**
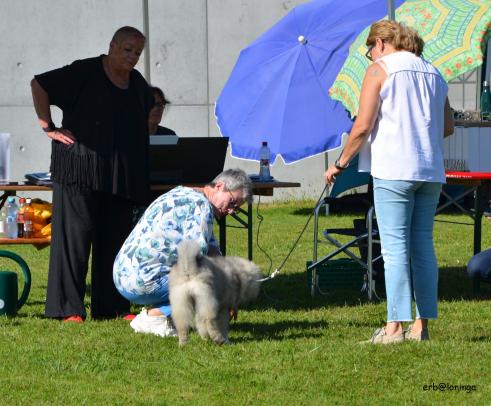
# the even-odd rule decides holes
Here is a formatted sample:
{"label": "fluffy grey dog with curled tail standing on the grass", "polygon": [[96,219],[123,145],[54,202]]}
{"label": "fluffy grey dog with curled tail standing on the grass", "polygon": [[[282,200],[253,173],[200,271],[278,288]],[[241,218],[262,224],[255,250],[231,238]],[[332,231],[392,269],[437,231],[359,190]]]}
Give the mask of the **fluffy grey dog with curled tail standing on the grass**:
{"label": "fluffy grey dog with curled tail standing on the grass", "polygon": [[191,327],[216,344],[229,343],[230,312],[259,294],[259,268],[239,257],[207,257],[195,241],[183,241],[169,274],[172,320],[185,345]]}

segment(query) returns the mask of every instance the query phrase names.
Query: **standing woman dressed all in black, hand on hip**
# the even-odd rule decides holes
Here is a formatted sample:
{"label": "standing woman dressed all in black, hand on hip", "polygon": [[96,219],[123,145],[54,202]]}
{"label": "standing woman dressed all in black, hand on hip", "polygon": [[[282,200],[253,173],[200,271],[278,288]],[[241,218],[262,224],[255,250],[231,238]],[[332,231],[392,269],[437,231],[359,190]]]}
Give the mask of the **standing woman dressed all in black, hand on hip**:
{"label": "standing woman dressed all in black, hand on hip", "polygon": [[[136,28],[118,29],[107,55],[82,59],[31,81],[39,124],[52,139],[53,223],[45,315],[81,322],[92,248],[91,315],[129,312],[114,287],[114,258],[145,202],[150,88],[134,69],[145,46]],[[51,105],[63,112],[61,127]]]}

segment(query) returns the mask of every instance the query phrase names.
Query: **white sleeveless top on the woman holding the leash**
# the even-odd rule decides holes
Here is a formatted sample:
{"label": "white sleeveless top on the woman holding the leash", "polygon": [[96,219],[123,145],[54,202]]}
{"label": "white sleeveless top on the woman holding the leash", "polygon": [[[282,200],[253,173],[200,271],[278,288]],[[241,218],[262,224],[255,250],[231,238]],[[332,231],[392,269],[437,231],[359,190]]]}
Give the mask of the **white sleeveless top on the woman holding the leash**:
{"label": "white sleeveless top on the woman holding the leash", "polygon": [[379,179],[445,183],[445,80],[411,52],[394,52],[380,61],[388,77],[380,90],[378,119],[360,151],[359,170]]}

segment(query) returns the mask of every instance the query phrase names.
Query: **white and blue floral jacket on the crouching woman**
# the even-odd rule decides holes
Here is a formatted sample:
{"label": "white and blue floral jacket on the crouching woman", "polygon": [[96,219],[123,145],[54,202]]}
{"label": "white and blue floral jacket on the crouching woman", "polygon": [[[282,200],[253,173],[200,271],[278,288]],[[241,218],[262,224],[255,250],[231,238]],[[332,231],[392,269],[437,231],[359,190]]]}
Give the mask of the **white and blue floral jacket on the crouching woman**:
{"label": "white and blue floral jacket on the crouching woman", "polygon": [[178,186],[156,199],[116,256],[116,288],[135,295],[152,293],[177,262],[182,240],[195,240],[203,254],[213,237],[213,207],[195,190]]}

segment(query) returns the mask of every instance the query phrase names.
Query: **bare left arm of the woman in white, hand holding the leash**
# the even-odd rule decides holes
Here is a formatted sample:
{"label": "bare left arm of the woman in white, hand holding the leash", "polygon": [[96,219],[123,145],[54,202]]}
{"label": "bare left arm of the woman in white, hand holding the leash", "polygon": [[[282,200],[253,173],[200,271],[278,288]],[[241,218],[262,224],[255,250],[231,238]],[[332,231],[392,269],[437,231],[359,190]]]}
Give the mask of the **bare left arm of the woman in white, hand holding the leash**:
{"label": "bare left arm of the woman in white, hand holding the leash", "polygon": [[360,109],[351,129],[346,146],[341,152],[337,165],[331,165],[324,174],[326,183],[330,185],[342,172],[340,167],[347,167],[370,135],[380,107],[380,89],[387,78],[382,67],[374,63],[370,65],[363,79],[360,94]]}

